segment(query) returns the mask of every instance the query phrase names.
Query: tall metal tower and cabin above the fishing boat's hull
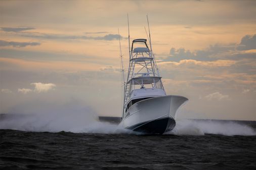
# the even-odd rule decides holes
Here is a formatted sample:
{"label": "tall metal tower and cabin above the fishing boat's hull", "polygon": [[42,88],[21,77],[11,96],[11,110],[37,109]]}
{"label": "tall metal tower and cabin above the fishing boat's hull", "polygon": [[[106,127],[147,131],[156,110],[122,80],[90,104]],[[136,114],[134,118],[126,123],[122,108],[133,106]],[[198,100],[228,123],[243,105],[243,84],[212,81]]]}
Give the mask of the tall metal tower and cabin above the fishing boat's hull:
{"label": "tall metal tower and cabin above the fishing boat's hull", "polygon": [[129,105],[145,98],[166,95],[152,50],[147,39],[132,42],[127,81],[124,85],[124,116]]}

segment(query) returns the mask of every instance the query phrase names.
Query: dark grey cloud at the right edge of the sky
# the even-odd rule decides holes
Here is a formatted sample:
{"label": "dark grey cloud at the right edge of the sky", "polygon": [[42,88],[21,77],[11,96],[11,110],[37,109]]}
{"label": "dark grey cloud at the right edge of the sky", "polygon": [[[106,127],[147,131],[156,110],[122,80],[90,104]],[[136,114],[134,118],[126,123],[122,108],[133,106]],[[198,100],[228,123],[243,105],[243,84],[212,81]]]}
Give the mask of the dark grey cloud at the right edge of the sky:
{"label": "dark grey cloud at the right edge of the sky", "polygon": [[252,35],[245,35],[239,46],[237,47],[238,50],[249,50],[249,49],[256,49],[256,34]]}

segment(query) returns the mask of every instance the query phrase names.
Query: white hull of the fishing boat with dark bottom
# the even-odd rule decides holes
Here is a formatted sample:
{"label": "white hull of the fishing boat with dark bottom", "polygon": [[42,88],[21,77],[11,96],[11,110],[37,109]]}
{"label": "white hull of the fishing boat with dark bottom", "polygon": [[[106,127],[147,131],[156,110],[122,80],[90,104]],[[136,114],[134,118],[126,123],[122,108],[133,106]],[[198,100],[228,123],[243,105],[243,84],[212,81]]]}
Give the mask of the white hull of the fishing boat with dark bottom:
{"label": "white hull of the fishing boat with dark bottom", "polygon": [[187,100],[176,95],[141,100],[126,111],[119,126],[148,134],[163,134],[174,129],[176,112]]}

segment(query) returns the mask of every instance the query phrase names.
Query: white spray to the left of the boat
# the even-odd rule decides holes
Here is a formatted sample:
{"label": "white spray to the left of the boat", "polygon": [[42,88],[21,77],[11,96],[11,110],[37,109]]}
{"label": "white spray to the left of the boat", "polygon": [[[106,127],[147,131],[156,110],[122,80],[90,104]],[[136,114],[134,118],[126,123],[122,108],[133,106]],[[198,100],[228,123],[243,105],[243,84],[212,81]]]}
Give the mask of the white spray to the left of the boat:
{"label": "white spray to the left of the boat", "polygon": [[[0,129],[32,132],[121,133],[117,125],[99,122],[98,116],[88,114],[6,114],[0,120]],[[123,130],[125,131],[125,130]]]}

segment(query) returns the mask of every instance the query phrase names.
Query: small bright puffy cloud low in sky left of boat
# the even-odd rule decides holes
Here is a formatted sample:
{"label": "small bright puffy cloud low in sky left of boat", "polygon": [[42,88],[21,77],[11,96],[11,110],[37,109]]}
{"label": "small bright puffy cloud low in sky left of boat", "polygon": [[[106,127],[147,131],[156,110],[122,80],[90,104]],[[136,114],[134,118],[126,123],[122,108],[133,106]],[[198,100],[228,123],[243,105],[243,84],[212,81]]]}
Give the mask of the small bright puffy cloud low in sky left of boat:
{"label": "small bright puffy cloud low in sky left of boat", "polygon": [[54,87],[56,87],[55,84],[53,83],[31,83],[30,85],[34,86],[34,89],[18,89],[18,92],[21,92],[23,94],[27,94],[30,92],[37,92],[37,93],[41,93],[41,92],[48,92],[49,90],[53,90]]}

